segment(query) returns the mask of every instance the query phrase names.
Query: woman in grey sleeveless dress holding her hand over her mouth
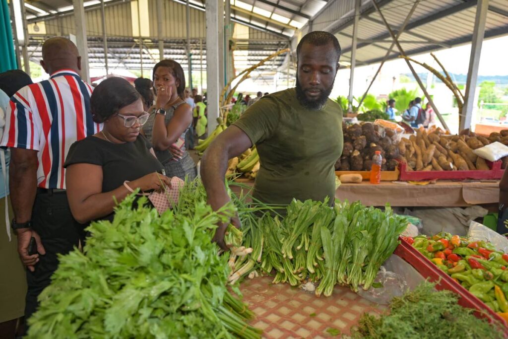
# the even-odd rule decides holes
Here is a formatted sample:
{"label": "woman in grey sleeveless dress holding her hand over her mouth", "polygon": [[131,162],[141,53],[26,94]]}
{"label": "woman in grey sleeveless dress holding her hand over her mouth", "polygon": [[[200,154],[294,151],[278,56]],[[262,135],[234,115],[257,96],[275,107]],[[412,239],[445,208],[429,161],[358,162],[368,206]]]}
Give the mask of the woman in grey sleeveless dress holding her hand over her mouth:
{"label": "woman in grey sleeveless dress holding her hand over her mouth", "polygon": [[151,140],[157,159],[166,174],[196,177],[196,164],[186,150],[185,134],[192,126],[192,108],[185,103],[185,76],[175,60],[162,60],[153,68],[153,91],[157,96],[155,107],[143,126],[143,133]]}

